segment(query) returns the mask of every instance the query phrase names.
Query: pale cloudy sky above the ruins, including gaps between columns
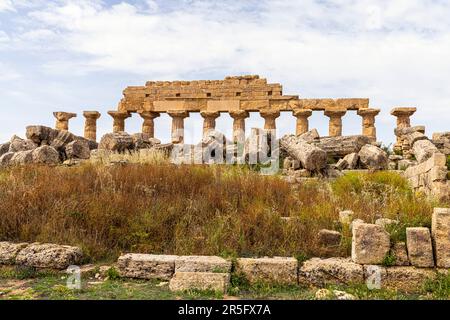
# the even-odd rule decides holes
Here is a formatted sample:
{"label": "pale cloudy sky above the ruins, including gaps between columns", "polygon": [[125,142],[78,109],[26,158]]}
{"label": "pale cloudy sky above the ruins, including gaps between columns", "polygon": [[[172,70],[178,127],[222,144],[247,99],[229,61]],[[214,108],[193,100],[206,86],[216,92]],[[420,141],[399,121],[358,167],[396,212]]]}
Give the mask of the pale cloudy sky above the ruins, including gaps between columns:
{"label": "pale cloudy sky above the ruins, including gaps between columns", "polygon": [[[304,98],[367,97],[380,108],[379,140],[394,140],[394,106],[416,106],[413,124],[450,130],[450,1],[447,0],[0,0],[0,141],[53,111],[98,110],[99,134],[129,85],[147,80],[259,74]],[[311,126],[327,134],[322,112]],[[230,133],[222,115],[218,129]],[[247,127],[262,126],[252,114]],[[138,132],[141,119],[127,121]],[[295,131],[283,114],[280,134]],[[187,142],[201,118],[186,120]],[[169,139],[170,119],[156,120]],[[353,112],[344,134],[361,132]]]}

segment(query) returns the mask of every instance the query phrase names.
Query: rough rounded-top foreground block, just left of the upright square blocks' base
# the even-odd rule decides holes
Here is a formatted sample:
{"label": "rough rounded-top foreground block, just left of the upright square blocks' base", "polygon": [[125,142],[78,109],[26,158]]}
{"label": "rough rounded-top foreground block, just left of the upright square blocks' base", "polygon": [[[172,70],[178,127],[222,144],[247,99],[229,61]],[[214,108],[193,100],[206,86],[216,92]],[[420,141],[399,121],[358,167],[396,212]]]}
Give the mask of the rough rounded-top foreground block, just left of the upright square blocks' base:
{"label": "rough rounded-top foreground block, just left of the upright square blocks' base", "polygon": [[312,258],[299,270],[299,283],[324,287],[335,284],[364,283],[364,270],[347,258]]}

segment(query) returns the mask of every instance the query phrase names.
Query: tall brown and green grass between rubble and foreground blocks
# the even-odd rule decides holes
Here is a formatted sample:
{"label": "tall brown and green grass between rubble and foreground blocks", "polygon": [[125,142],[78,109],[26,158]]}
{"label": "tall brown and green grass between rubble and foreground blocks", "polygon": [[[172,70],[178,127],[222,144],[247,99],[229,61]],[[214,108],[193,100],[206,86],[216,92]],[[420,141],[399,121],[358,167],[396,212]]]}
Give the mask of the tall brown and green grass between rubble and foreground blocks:
{"label": "tall brown and green grass between rubble and foreground blocks", "polygon": [[[123,252],[320,256],[322,228],[350,232],[340,210],[374,222],[429,226],[434,203],[395,173],[290,185],[238,166],[167,163],[16,167],[0,171],[0,241],[81,246],[88,260]],[[291,217],[288,221],[281,217]]]}

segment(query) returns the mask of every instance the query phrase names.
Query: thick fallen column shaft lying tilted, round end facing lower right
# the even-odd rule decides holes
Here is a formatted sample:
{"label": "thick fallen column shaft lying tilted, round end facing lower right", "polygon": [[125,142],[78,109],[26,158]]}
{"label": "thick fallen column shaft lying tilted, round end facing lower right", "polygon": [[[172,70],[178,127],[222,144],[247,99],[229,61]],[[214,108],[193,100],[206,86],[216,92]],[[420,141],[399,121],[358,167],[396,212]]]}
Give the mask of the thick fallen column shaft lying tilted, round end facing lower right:
{"label": "thick fallen column shaft lying tilted, round end facing lower right", "polygon": [[295,135],[285,135],[280,139],[280,148],[291,158],[301,162],[303,168],[320,171],[327,165],[327,154]]}

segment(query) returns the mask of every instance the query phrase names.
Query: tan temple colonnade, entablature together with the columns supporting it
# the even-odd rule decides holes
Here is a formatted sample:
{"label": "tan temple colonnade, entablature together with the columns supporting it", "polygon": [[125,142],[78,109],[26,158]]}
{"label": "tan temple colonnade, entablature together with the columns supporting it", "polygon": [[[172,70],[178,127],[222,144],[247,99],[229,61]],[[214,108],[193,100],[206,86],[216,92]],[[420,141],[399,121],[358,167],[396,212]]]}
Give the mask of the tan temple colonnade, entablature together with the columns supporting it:
{"label": "tan temple colonnade, entablature together with the columns supporting it", "polygon": [[249,112],[259,112],[264,128],[276,129],[282,111],[290,111],[297,119],[296,133],[308,131],[308,118],[313,111],[324,111],[329,117],[330,136],[342,134],[342,117],[355,110],[362,117],[362,133],[376,139],[375,116],[378,109],[369,108],[369,99],[299,99],[283,95],[278,83],[267,83],[257,75],[226,77],[224,80],[148,81],[145,86],[123,91],[118,110],[108,114],[114,119],[114,131],[125,130],[125,119],[131,113],[143,118],[142,131],[154,135],[154,119],[161,113],[172,117],[172,141],[183,141],[184,119],[198,112],[204,119],[203,130],[213,130],[221,113],[233,118],[233,139],[245,132]]}

